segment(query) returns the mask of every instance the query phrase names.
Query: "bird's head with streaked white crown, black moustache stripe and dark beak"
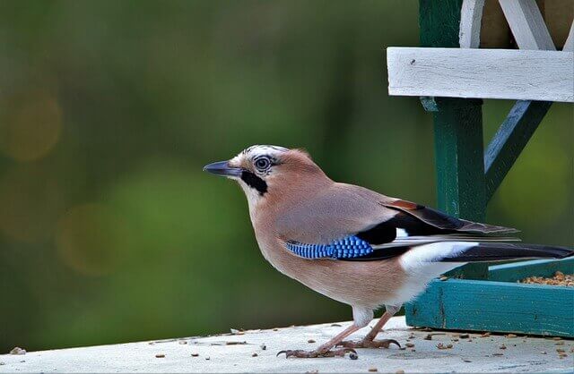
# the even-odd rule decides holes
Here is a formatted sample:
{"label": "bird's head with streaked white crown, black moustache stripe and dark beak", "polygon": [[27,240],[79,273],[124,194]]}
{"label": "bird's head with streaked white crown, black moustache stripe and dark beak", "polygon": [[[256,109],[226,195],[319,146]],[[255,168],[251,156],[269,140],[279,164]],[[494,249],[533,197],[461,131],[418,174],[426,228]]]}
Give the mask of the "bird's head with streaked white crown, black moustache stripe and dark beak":
{"label": "bird's head with streaked white crown, black moustache stripe and dark beak", "polygon": [[236,180],[245,191],[249,206],[269,195],[279,197],[330,181],[307,152],[278,146],[251,146],[230,160],[204,166],[204,171]]}

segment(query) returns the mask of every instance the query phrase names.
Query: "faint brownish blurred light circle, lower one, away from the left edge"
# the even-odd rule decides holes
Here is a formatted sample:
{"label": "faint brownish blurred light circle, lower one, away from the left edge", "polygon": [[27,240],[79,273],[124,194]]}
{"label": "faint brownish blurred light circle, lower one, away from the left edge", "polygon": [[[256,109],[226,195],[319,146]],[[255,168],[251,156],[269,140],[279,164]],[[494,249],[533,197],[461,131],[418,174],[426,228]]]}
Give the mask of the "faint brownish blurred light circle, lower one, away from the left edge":
{"label": "faint brownish blurred light circle, lower one, away from the left edge", "polygon": [[70,209],[57,228],[57,251],[64,263],[85,276],[108,274],[121,251],[121,220],[103,204]]}

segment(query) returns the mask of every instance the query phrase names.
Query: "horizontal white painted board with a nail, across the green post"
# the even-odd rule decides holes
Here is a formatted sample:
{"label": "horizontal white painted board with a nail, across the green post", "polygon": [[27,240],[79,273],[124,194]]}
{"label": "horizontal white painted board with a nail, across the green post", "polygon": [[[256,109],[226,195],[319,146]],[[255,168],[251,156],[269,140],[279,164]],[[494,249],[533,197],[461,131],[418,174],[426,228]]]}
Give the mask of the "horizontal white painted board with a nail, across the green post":
{"label": "horizontal white painted board with a nail, across the green post", "polygon": [[574,102],[573,62],[572,52],[389,47],[388,93]]}

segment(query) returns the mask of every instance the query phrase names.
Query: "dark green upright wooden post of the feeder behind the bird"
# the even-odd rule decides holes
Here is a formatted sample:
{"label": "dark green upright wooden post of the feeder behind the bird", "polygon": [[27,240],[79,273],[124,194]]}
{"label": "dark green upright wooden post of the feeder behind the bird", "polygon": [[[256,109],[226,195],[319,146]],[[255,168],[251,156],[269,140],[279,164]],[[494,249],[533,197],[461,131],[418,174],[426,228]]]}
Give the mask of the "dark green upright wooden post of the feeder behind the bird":
{"label": "dark green upright wooden post of the feeder behind the bird", "polygon": [[[422,47],[460,47],[462,0],[420,0]],[[483,157],[483,101],[421,98],[434,120],[439,209],[482,222],[486,195]],[[487,264],[467,265],[449,276],[485,279]]]}

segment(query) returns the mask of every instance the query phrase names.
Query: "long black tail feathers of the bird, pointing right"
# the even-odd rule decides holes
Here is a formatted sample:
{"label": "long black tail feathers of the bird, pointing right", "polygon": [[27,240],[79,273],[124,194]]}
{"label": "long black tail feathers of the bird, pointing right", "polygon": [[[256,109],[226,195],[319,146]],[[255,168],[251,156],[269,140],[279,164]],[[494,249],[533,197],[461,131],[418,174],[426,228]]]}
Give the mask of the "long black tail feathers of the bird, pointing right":
{"label": "long black tail feathers of the bird, pointing right", "polygon": [[510,242],[481,242],[442,262],[500,261],[504,259],[564,259],[574,256],[574,250],[540,244]]}

